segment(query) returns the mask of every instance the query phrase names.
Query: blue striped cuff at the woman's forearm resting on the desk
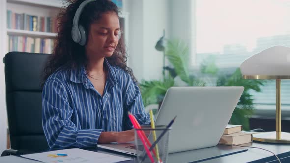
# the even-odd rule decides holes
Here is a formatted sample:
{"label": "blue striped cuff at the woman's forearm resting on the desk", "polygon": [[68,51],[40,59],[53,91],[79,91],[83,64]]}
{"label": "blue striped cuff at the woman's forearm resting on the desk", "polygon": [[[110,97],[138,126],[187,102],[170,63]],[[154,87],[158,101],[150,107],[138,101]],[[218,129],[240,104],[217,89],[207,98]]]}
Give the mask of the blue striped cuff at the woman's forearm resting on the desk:
{"label": "blue striped cuff at the woman's forearm resting on the desk", "polygon": [[76,146],[78,148],[96,147],[102,129],[81,129],[78,131]]}

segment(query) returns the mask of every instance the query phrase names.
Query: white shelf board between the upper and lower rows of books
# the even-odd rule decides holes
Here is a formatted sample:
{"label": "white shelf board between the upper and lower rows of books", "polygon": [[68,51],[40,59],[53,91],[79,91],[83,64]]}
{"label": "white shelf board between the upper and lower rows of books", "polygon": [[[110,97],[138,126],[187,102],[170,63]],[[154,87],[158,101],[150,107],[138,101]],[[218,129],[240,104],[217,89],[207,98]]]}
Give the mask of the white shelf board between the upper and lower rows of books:
{"label": "white shelf board between the upper and lower rows of books", "polygon": [[29,37],[40,37],[40,38],[55,38],[57,33],[48,33],[48,32],[36,32],[29,30],[19,30],[19,29],[7,29],[7,35],[21,35]]}

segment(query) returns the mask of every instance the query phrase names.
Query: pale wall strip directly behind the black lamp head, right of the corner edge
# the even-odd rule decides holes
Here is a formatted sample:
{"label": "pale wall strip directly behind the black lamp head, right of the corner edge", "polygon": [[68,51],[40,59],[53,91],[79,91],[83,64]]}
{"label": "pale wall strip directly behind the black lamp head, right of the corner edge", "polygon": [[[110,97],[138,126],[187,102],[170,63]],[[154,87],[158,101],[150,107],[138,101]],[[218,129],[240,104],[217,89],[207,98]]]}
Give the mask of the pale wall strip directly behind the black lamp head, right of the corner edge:
{"label": "pale wall strip directly behind the black lamp head, right of the corner edge", "polygon": [[168,0],[143,0],[143,62],[146,80],[162,79],[163,52],[157,51],[155,45],[163,35],[168,33]]}

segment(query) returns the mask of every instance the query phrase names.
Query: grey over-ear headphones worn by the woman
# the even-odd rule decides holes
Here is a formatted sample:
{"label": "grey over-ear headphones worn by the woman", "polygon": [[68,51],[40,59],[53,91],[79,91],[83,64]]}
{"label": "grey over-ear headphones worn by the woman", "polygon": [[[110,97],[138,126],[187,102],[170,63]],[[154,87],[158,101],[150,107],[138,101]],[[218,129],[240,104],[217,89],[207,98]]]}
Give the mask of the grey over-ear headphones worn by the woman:
{"label": "grey over-ear headphones worn by the woman", "polygon": [[[84,46],[86,44],[87,41],[87,33],[85,28],[79,24],[79,19],[80,19],[80,15],[84,9],[84,7],[90,3],[96,0],[85,0],[84,2],[81,3],[81,5],[79,6],[79,8],[77,9],[74,19],[73,19],[73,27],[71,29],[71,37],[74,40],[74,42]],[[121,31],[119,31],[119,40],[121,39]]]}

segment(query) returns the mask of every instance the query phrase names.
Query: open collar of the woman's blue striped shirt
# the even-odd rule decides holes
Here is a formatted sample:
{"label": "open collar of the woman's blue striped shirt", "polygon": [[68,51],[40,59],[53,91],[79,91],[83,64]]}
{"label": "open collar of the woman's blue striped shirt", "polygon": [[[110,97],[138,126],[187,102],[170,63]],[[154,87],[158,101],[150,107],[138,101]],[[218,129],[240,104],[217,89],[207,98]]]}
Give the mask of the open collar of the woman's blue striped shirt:
{"label": "open collar of the woman's blue striped shirt", "polygon": [[[104,62],[106,67],[108,68],[108,80],[113,84],[113,86],[115,86],[117,82],[116,72],[106,58]],[[87,83],[87,76],[84,65],[71,70],[70,81],[75,83]]]}

